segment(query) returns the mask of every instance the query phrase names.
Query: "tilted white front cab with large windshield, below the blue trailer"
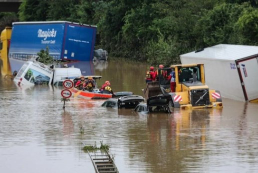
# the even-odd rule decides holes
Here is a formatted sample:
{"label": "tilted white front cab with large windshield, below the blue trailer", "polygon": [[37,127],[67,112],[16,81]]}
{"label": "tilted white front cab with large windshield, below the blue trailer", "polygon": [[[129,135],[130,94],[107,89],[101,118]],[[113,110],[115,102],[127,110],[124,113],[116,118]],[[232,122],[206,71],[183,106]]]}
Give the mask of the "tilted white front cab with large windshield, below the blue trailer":
{"label": "tilted white front cab with large windshield, below the blue trailer", "polygon": [[14,82],[18,85],[51,84],[53,69],[38,61],[23,64]]}

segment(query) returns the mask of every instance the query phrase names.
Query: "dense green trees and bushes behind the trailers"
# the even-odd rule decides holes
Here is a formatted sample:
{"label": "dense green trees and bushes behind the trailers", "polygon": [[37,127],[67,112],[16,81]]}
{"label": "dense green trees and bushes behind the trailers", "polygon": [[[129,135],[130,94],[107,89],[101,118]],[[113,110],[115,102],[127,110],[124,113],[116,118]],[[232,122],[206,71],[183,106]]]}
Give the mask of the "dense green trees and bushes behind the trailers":
{"label": "dense green trees and bushes behind the trailers", "polygon": [[23,0],[22,21],[97,25],[95,47],[151,64],[219,43],[257,45],[257,0]]}

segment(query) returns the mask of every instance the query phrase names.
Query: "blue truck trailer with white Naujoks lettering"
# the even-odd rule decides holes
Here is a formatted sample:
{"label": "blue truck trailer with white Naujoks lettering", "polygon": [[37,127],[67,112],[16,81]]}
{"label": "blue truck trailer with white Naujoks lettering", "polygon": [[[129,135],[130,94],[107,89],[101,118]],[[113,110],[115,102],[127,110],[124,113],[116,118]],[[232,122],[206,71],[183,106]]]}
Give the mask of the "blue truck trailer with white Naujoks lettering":
{"label": "blue truck trailer with white Naujoks lettering", "polygon": [[49,48],[56,60],[92,61],[97,26],[69,21],[14,22],[9,49],[12,72]]}

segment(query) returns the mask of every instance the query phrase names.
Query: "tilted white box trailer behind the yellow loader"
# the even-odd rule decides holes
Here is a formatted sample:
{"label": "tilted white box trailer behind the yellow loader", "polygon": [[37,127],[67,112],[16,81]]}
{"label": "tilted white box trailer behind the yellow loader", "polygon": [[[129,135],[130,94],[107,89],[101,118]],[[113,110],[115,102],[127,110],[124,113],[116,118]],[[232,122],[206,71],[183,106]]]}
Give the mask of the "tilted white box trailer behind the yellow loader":
{"label": "tilted white box trailer behind the yellow loader", "polygon": [[218,44],[180,55],[181,63],[203,63],[205,81],[222,97],[258,102],[258,46]]}

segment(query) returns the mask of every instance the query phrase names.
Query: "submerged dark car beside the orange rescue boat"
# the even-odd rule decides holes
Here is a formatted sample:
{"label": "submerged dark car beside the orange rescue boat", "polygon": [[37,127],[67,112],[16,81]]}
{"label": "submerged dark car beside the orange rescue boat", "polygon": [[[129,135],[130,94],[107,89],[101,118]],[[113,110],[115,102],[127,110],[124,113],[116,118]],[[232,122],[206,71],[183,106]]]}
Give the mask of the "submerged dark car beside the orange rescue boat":
{"label": "submerged dark car beside the orange rescue boat", "polygon": [[140,95],[126,95],[118,99],[109,98],[101,106],[135,108],[141,101],[144,101],[144,100],[145,99]]}

